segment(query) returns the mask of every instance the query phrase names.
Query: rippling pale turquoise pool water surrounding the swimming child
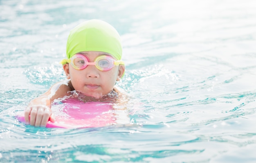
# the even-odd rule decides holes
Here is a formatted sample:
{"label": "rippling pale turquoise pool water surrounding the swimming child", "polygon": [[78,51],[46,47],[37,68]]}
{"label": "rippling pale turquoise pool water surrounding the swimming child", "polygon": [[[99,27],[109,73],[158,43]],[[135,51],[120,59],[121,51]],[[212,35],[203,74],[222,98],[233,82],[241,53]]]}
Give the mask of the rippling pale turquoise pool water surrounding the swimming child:
{"label": "rippling pale turquoise pool water surrounding the swimming child", "polygon": [[[70,29],[119,31],[119,125],[35,128],[14,115],[65,78]],[[1,0],[0,162],[256,162],[254,0]],[[122,116],[124,117],[124,116]]]}

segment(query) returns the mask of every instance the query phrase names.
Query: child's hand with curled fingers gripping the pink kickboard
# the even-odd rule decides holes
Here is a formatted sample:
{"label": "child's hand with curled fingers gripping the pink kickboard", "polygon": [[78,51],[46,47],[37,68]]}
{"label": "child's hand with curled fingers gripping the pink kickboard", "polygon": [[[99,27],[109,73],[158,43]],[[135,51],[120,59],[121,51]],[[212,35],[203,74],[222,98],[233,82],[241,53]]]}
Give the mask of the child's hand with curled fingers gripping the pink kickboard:
{"label": "child's hand with curled fingers gripping the pink kickboard", "polygon": [[27,125],[45,127],[48,121],[55,122],[52,110],[45,105],[31,105],[25,109]]}

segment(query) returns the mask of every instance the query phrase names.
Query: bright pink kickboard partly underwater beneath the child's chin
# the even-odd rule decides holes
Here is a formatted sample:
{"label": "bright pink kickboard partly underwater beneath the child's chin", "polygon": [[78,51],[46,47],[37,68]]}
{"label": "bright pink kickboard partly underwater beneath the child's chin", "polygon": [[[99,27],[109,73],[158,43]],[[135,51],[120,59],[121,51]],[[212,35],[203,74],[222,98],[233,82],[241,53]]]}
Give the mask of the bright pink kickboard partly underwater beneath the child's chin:
{"label": "bright pink kickboard partly underwater beneath the child's chin", "polygon": [[[48,121],[46,127],[88,128],[115,124],[112,103],[88,102],[68,99],[61,104],[52,105],[55,122]],[[25,123],[24,115],[16,116]]]}

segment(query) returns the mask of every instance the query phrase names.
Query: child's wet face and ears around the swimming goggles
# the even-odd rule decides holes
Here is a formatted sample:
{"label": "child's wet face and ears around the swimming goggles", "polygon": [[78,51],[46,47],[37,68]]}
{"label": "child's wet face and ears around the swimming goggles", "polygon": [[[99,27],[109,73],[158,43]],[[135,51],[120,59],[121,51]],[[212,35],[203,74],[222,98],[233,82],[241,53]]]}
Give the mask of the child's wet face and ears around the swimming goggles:
{"label": "child's wet face and ears around the swimming goggles", "polygon": [[[100,51],[83,51],[79,52],[79,54],[88,57],[89,62],[94,62],[97,56],[111,56]],[[68,63],[63,65],[63,69],[67,79],[71,80],[72,86],[76,91],[86,96],[100,98],[113,90],[116,81],[119,81],[124,74],[125,66],[119,65],[108,71],[101,71],[94,65],[88,65],[85,69],[78,70]]]}

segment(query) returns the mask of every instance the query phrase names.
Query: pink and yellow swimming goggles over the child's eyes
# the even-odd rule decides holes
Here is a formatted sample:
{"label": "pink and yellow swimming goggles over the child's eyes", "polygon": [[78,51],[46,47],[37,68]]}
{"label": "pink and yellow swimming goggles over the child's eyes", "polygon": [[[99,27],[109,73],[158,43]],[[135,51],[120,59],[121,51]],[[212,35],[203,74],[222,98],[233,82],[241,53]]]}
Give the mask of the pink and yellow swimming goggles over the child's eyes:
{"label": "pink and yellow swimming goggles over the child's eyes", "polygon": [[88,65],[95,65],[101,71],[108,71],[115,66],[124,65],[121,60],[114,60],[111,56],[101,55],[95,58],[94,62],[89,62],[89,58],[82,54],[75,54],[71,58],[61,60],[61,64],[70,63],[75,69],[85,69]]}

